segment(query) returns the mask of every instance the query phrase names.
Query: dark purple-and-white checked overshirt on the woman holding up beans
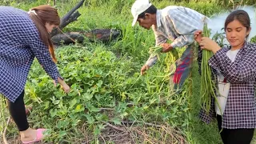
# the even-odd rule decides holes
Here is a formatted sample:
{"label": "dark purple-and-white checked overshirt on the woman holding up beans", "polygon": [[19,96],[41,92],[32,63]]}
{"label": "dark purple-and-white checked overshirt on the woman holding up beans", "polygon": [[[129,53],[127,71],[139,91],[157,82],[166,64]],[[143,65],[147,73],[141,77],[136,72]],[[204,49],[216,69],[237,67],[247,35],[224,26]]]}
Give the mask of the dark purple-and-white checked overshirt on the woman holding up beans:
{"label": "dark purple-and-white checked overshirt on the woman holding up beans", "polygon": [[[256,82],[256,44],[245,43],[239,50],[234,62],[226,56],[231,46],[224,47],[209,60],[213,73],[219,70],[230,82],[230,91],[226,109],[222,115],[222,128],[253,129],[256,128],[256,106],[254,87]],[[198,64],[201,67],[202,50],[199,50]],[[200,70],[199,70],[200,72]],[[214,118],[214,99],[212,98],[210,114],[204,110],[200,118],[209,123]]]}

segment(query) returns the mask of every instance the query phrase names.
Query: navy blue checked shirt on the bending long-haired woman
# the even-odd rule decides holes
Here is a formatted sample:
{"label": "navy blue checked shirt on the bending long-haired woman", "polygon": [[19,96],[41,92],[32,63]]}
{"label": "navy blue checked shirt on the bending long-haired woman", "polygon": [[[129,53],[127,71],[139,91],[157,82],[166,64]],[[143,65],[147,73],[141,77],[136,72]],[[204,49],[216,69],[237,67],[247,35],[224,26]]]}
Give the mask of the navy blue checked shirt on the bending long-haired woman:
{"label": "navy blue checked shirt on the bending long-haired woman", "polygon": [[58,69],[26,11],[0,6],[0,94],[15,102],[34,60],[58,82]]}

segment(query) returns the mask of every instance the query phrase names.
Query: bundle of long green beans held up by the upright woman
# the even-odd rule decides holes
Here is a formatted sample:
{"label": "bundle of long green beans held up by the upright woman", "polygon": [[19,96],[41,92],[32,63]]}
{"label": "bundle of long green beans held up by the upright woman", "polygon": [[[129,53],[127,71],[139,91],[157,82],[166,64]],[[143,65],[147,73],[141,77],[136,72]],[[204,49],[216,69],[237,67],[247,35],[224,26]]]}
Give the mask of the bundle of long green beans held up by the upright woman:
{"label": "bundle of long green beans held up by the upright woman", "polygon": [[[203,27],[203,36],[210,37],[210,30],[207,28],[207,24]],[[208,64],[208,60],[213,56],[212,51],[202,50],[202,63],[201,63],[201,102],[204,110],[207,113],[210,111],[211,98],[217,100],[215,94],[215,83],[213,81],[212,72]]]}

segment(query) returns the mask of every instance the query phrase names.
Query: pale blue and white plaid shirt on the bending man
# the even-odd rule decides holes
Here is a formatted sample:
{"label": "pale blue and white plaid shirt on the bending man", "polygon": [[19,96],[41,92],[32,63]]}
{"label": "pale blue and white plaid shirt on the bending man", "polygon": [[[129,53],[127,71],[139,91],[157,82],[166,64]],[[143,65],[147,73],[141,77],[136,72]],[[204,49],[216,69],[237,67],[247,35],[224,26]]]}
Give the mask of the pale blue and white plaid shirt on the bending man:
{"label": "pale blue and white plaid shirt on the bending man", "polygon": [[[195,10],[183,6],[167,6],[157,10],[157,26],[152,26],[156,46],[172,40],[171,46],[188,46],[194,42],[194,32],[202,30],[204,22],[209,18]],[[157,56],[150,56],[146,65],[152,66],[157,62]]]}

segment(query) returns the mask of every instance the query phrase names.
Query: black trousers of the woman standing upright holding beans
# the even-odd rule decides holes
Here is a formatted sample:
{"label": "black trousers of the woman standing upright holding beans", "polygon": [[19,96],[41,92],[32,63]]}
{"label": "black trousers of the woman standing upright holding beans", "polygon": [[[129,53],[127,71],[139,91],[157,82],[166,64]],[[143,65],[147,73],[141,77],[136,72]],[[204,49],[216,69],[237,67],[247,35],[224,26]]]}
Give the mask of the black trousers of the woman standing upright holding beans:
{"label": "black trousers of the woman standing upright holding beans", "polygon": [[254,136],[254,129],[222,129],[222,116],[217,115],[218,130],[222,130],[221,137],[224,144],[250,144]]}

